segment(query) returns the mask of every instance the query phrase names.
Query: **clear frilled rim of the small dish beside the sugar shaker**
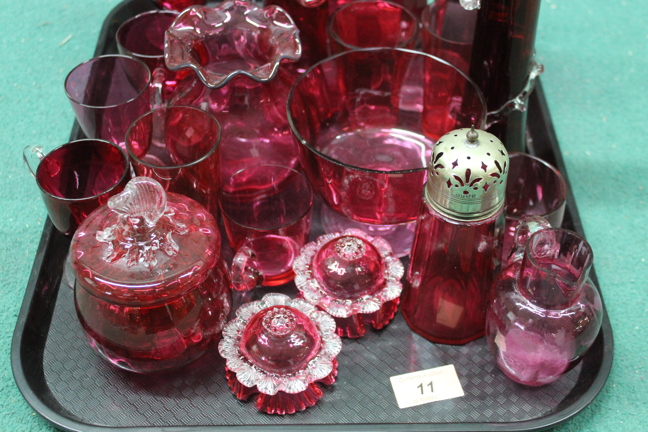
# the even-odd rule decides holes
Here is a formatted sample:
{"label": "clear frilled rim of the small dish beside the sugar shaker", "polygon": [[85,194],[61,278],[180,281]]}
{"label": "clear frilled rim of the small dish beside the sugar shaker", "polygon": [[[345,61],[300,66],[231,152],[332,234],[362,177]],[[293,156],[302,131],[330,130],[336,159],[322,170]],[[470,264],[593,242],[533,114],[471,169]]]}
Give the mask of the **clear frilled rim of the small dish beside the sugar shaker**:
{"label": "clear frilled rim of the small dish beside the sugar shaker", "polygon": [[[336,299],[335,297],[330,297],[330,295],[321,289],[318,280],[310,270],[313,258],[323,245],[335,238],[343,236],[364,238],[364,240],[367,240],[367,242],[376,247],[383,260],[382,271],[385,282],[382,288],[376,290],[374,293],[354,300]],[[295,272],[295,285],[301,291],[304,299],[338,318],[347,318],[356,313],[373,313],[380,310],[384,302],[397,299],[402,291],[400,278],[405,273],[402,262],[393,255],[391,246],[387,240],[382,237],[368,236],[364,231],[354,228],[347,229],[341,233],[324,234],[323,236],[319,236],[315,242],[304,245],[301,248],[299,256],[295,258],[292,269]]]}

